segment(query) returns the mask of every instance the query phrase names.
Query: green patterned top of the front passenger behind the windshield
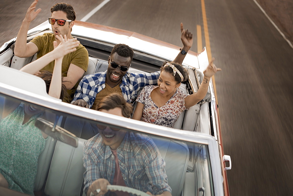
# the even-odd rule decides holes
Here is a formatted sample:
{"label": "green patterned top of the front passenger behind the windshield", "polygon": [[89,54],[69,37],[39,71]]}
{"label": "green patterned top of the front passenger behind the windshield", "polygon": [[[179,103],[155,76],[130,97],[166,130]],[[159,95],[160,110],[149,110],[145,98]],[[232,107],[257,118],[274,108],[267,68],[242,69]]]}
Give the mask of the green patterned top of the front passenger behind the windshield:
{"label": "green patterned top of the front passenger behind the windshield", "polygon": [[45,139],[35,120],[36,114],[23,123],[24,104],[0,121],[0,172],[9,189],[34,195],[38,157],[44,150]]}

